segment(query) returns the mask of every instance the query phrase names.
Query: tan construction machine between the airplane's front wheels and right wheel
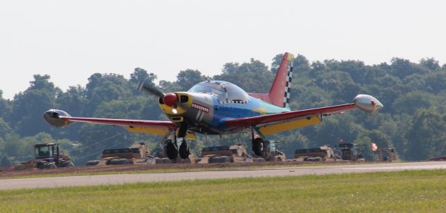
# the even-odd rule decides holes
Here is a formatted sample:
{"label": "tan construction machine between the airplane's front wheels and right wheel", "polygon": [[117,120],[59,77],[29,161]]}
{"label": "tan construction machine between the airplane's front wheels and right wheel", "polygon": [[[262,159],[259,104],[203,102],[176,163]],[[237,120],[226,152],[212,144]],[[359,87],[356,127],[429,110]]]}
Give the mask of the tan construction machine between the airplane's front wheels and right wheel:
{"label": "tan construction machine between the airplane's front wheels and right wheel", "polygon": [[201,159],[199,164],[211,163],[229,163],[229,162],[249,162],[250,157],[247,155],[245,145],[222,145],[205,147],[201,150]]}

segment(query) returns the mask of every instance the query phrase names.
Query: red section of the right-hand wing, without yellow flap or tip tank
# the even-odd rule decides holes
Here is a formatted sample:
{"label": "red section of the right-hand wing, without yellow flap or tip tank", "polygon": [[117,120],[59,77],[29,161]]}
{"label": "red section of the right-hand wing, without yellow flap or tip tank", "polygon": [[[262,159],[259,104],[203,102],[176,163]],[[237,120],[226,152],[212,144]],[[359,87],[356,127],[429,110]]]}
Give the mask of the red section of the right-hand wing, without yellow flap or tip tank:
{"label": "red section of the right-hand wing, without yellow flap or tip tank", "polygon": [[297,120],[299,118],[307,118],[313,116],[319,116],[328,113],[337,113],[341,111],[347,111],[351,109],[356,109],[355,104],[343,104],[331,107],[321,107],[316,109],[305,109],[299,111],[290,111],[284,113],[271,114],[266,116],[255,116],[249,118],[236,118],[231,120],[226,120],[226,125],[229,127],[243,128],[243,127],[254,127],[258,125],[267,125],[270,123],[284,123],[290,120]]}

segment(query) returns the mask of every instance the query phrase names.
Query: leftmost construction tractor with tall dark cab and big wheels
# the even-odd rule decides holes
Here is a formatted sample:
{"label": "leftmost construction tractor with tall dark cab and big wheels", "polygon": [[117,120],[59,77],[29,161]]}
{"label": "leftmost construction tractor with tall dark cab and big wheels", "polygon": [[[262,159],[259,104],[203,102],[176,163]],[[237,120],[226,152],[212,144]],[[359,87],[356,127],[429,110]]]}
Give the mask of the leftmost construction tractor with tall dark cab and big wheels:
{"label": "leftmost construction tractor with tall dark cab and big wheels", "polygon": [[26,168],[57,168],[75,166],[68,155],[59,151],[59,143],[38,143],[34,145],[35,159],[15,166],[15,170]]}

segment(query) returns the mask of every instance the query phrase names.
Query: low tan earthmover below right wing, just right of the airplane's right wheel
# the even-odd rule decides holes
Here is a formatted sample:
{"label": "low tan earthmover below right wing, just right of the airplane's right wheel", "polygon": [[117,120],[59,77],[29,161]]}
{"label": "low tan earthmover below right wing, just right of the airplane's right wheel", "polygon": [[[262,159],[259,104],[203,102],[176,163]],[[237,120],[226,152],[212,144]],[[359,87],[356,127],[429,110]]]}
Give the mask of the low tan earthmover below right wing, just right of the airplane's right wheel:
{"label": "low tan earthmover below right wing, just right of the airplane's right wheel", "polygon": [[297,161],[334,161],[335,155],[330,145],[322,145],[319,148],[299,149],[294,152]]}

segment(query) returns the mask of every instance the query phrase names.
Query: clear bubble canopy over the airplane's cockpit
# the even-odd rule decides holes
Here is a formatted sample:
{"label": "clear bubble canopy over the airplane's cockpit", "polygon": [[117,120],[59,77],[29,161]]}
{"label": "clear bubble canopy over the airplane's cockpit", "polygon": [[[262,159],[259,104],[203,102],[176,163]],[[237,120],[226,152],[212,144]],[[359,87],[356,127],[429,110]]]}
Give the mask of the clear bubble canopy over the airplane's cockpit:
{"label": "clear bubble canopy over the airplane's cockpit", "polygon": [[218,101],[224,104],[246,104],[248,94],[242,88],[226,81],[204,81],[196,84],[188,92],[209,93],[218,97]]}

